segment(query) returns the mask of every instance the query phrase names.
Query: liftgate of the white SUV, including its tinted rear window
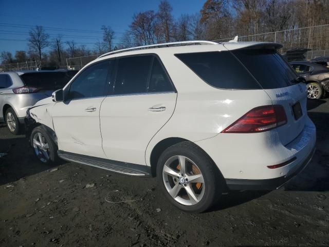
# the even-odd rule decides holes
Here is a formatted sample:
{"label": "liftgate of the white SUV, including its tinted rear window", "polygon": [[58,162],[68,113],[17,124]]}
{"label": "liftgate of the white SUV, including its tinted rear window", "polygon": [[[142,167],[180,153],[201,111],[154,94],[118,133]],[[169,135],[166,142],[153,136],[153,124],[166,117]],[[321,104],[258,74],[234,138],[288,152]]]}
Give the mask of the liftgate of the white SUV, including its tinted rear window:
{"label": "liftgate of the white SUV, including its tinted rear window", "polygon": [[297,74],[276,50],[237,49],[232,53],[261,84],[273,104],[284,107],[287,124],[276,129],[283,145],[294,140],[303,130],[306,112],[306,85],[296,83]]}

